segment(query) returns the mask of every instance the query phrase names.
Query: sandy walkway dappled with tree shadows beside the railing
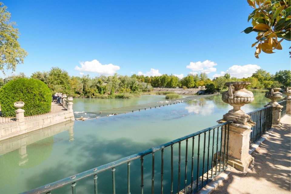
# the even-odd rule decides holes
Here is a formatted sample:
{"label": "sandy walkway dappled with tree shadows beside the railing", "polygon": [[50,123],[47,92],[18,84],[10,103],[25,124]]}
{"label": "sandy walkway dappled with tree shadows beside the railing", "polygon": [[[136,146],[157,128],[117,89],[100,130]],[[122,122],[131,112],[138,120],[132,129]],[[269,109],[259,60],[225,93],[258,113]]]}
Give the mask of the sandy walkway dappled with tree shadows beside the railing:
{"label": "sandy walkway dappled with tree shadows beside the railing", "polygon": [[231,173],[212,193],[290,194],[290,115],[284,116],[281,123],[283,127],[274,129],[253,152],[255,166],[246,175],[229,168]]}

